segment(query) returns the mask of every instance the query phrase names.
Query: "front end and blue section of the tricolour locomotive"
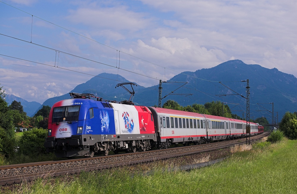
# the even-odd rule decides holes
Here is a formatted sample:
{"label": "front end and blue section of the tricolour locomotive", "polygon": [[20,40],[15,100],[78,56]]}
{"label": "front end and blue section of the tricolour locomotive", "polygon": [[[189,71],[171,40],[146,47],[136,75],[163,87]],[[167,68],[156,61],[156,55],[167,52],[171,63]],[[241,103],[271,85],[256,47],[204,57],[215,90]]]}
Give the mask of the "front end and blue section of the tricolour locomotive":
{"label": "front end and blue section of the tricolour locomotive", "polygon": [[107,102],[62,100],[55,103],[50,114],[48,129],[52,135],[48,135],[44,145],[57,157],[89,155],[96,142],[105,141],[108,135],[116,136],[114,111]]}

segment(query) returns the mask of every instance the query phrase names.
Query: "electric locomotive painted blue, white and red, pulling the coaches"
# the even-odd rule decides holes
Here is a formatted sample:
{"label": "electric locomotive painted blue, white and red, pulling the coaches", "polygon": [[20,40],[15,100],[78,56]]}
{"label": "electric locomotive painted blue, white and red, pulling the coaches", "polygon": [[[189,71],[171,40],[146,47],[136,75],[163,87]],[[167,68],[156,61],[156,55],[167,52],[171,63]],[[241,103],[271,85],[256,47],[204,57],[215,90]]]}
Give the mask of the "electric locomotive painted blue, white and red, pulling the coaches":
{"label": "electric locomotive painted blue, white and red, pulling the coaches", "polygon": [[73,99],[56,102],[50,110],[44,143],[48,152],[57,157],[93,157],[95,152],[108,155],[110,150],[135,152],[156,146],[154,120],[147,107],[103,101],[93,94],[70,95]]}

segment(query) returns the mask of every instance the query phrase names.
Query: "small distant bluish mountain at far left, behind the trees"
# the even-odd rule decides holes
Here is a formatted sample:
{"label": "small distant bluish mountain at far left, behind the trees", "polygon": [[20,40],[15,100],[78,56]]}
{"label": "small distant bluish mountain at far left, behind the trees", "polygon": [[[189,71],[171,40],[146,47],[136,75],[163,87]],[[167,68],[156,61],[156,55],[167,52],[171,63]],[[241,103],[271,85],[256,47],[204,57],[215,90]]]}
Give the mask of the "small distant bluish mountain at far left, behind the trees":
{"label": "small distant bluish mountain at far left, behind the trees", "polygon": [[6,94],[5,101],[8,105],[10,105],[14,100],[21,103],[24,112],[26,112],[28,116],[32,116],[41,106],[41,104],[38,102],[28,102],[27,100],[24,100],[23,98],[17,97],[15,95]]}

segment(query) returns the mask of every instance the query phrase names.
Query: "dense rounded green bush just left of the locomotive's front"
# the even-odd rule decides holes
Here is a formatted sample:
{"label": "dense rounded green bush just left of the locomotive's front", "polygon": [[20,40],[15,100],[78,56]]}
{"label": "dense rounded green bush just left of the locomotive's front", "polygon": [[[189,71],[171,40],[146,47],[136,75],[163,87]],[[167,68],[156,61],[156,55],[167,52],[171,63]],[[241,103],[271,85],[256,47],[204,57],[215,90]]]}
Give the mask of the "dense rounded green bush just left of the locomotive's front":
{"label": "dense rounded green bush just left of the locomotive's front", "polygon": [[24,155],[36,156],[46,153],[44,142],[47,136],[46,129],[33,128],[23,132],[19,140],[19,153]]}

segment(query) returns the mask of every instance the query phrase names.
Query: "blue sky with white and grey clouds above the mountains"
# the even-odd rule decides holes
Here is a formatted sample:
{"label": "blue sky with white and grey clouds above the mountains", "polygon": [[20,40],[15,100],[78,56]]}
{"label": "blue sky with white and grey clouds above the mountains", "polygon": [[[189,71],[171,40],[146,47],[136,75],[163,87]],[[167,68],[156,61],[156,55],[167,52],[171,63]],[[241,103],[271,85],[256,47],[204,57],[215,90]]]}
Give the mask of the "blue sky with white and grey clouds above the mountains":
{"label": "blue sky with white and grey clouds above the mountains", "polygon": [[0,0],[0,86],[43,103],[103,72],[149,87],[234,59],[297,76],[296,10],[293,0]]}

